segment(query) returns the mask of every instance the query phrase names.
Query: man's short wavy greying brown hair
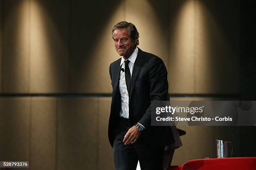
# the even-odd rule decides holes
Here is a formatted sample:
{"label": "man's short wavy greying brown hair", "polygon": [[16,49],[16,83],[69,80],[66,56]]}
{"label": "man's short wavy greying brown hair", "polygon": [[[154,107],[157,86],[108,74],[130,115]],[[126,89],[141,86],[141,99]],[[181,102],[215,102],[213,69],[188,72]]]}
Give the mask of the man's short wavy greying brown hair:
{"label": "man's short wavy greying brown hair", "polygon": [[139,41],[138,38],[139,36],[139,32],[137,31],[137,28],[135,27],[135,25],[133,23],[128,23],[127,21],[121,21],[119,23],[117,23],[116,25],[114,25],[113,29],[112,29],[112,37],[113,37],[113,32],[117,29],[124,29],[127,28],[128,32],[129,32],[129,36],[131,37],[132,40],[136,40],[137,39],[137,43],[135,45],[139,45]]}

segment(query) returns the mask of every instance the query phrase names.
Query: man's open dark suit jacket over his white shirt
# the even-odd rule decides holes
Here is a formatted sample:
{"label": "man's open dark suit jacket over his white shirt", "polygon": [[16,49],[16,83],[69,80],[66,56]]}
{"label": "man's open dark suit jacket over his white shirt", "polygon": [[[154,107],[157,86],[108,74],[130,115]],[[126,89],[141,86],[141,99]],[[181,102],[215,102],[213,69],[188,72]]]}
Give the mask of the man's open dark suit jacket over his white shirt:
{"label": "man's open dark suit jacket over his white shirt", "polygon": [[[109,67],[113,87],[111,111],[108,125],[108,138],[113,147],[114,131],[120,118],[121,100],[119,91],[121,58],[112,62]],[[167,70],[164,62],[156,55],[138,49],[138,55],[133,66],[129,97],[129,121],[133,126],[137,122],[146,127],[141,134],[141,140],[149,146],[181,145],[176,127],[151,126],[151,101],[168,100]],[[175,131],[176,129],[176,131]],[[176,138],[174,139],[174,134]],[[176,143],[176,144],[175,144]],[[180,144],[179,144],[180,143]]]}

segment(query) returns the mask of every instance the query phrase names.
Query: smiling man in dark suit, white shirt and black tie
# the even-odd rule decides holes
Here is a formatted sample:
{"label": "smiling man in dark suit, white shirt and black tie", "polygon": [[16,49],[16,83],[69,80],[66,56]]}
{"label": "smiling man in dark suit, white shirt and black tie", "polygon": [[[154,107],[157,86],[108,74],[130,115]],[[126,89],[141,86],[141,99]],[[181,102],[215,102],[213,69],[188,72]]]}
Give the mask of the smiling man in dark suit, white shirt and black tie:
{"label": "smiling man in dark suit, white shirt and black tie", "polygon": [[[108,136],[117,170],[163,170],[166,146],[177,148],[177,129],[151,126],[151,101],[168,100],[167,70],[156,55],[137,47],[139,33],[122,21],[112,30],[120,59],[110,64],[113,87]],[[178,140],[177,140],[178,139]]]}

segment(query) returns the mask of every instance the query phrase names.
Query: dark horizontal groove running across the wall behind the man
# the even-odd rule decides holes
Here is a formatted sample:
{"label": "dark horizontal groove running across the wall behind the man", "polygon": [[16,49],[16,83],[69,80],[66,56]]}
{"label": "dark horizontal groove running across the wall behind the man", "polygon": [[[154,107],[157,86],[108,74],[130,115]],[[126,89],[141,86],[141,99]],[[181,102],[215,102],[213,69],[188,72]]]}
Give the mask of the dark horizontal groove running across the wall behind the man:
{"label": "dark horizontal groove running across the wall behind the man", "polygon": [[[0,97],[112,97],[111,93],[2,93]],[[169,97],[235,97],[240,94],[169,94]]]}

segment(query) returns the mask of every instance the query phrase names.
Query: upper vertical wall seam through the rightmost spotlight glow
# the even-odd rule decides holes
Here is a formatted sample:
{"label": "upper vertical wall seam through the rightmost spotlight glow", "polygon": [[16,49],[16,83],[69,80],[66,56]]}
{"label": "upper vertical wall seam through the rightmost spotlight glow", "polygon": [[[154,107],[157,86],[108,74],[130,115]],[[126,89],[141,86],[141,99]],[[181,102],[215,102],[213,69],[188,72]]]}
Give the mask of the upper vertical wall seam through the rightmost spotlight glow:
{"label": "upper vertical wall seam through the rightmost spotlight glow", "polygon": [[196,62],[197,62],[197,0],[194,0],[194,61],[193,61],[193,71],[194,71],[194,93],[197,92],[197,73],[196,73]]}

